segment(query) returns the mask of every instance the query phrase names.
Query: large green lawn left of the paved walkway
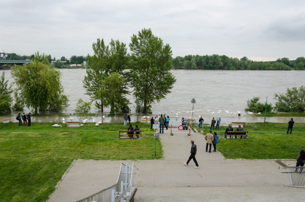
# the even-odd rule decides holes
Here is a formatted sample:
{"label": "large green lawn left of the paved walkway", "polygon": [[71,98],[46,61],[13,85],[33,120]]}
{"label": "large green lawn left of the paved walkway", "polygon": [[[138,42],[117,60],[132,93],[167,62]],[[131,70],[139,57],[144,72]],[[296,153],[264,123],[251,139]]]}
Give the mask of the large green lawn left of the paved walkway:
{"label": "large green lawn left of the paved walkway", "polygon": [[17,123],[0,123],[0,201],[46,201],[75,158],[146,160],[163,155],[157,140],[154,156],[149,124],[138,123],[142,140],[119,139],[119,130],[127,130],[122,123],[103,123],[99,127],[87,123],[74,128],[53,124],[19,127]]}

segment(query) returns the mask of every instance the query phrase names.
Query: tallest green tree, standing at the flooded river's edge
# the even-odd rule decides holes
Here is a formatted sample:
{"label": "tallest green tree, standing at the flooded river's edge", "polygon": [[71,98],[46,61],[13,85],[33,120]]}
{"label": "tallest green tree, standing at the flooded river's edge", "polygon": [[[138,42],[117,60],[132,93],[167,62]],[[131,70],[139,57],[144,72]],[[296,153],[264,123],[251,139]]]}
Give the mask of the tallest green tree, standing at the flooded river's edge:
{"label": "tallest green tree, standing at the flooded river's edge", "polygon": [[151,29],[143,29],[133,34],[129,44],[131,51],[130,78],[134,97],[138,97],[140,111],[151,112],[151,104],[159,102],[170,93],[175,77],[172,69],[172,50],[154,36]]}

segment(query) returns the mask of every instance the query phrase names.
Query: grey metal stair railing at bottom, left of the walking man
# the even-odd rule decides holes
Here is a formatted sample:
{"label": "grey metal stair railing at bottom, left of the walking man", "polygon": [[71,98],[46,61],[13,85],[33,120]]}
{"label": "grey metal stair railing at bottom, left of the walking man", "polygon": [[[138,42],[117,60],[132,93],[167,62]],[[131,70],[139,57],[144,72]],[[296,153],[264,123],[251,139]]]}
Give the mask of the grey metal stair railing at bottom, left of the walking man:
{"label": "grey metal stair railing at bottom, left of the walking man", "polygon": [[138,171],[134,164],[121,163],[119,176],[115,185],[76,202],[129,202],[135,192],[133,185],[135,169]]}

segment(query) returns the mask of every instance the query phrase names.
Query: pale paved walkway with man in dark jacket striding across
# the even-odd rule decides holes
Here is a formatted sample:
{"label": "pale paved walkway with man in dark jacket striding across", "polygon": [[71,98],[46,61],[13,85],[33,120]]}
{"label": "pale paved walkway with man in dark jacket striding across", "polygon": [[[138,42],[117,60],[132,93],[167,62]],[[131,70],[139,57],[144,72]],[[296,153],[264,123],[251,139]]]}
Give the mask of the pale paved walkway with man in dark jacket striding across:
{"label": "pale paved walkway with man in dark jacket striding across", "polygon": [[[287,201],[303,196],[304,189],[283,187],[288,185],[287,175],[278,171],[275,161],[224,160],[218,152],[205,152],[202,134],[164,133],[160,139],[164,160],[75,161],[49,202],[75,202],[115,184],[121,162],[139,168],[135,201]],[[199,169],[193,161],[183,164],[190,155],[191,139],[197,145]]]}

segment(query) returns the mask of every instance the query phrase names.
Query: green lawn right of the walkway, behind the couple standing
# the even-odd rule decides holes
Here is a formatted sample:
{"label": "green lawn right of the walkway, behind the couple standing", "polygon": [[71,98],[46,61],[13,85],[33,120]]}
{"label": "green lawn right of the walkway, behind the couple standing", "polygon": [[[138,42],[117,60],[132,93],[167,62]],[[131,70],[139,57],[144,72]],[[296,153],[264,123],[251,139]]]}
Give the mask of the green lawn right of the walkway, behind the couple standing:
{"label": "green lawn right of the walkway, behind the couple standing", "polygon": [[[256,127],[255,127],[256,126]],[[286,134],[288,123],[246,123],[248,139],[224,137],[226,127],[213,130],[219,136],[216,149],[233,159],[296,159],[304,149],[305,123],[295,123],[292,134]],[[235,127],[234,127],[235,130]]]}

